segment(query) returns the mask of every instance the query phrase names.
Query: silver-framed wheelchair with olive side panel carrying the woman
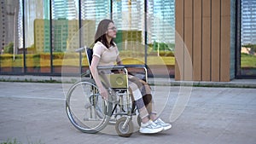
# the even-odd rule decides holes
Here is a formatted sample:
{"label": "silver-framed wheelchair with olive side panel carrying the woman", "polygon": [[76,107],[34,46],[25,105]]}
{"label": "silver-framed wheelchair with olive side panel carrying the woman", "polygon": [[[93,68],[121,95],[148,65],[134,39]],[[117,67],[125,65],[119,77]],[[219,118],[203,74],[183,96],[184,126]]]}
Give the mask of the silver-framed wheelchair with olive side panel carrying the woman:
{"label": "silver-framed wheelchair with olive side panel carrying the woman", "polygon": [[[92,60],[92,49],[80,48],[77,52],[85,51],[87,60]],[[104,82],[108,89],[108,100],[104,100],[99,93],[90,71],[83,73],[85,78],[71,86],[66,96],[67,117],[73,126],[84,132],[95,134],[108,124],[115,124],[115,130],[119,136],[130,137],[134,130],[132,117],[137,115],[137,107],[133,101],[131,91],[128,88],[128,74],[148,81],[148,72],[145,66],[123,65],[123,66],[98,66],[100,70],[122,71],[106,75]],[[143,73],[129,72],[129,68],[142,69]],[[137,115],[137,124],[142,119]]]}

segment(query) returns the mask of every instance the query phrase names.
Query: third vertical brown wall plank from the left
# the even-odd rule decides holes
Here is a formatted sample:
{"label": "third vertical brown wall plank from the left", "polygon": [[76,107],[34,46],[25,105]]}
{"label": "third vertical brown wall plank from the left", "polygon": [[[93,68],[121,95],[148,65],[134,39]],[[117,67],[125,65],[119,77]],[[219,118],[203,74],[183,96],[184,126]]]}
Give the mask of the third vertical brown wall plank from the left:
{"label": "third vertical brown wall plank from the left", "polygon": [[201,0],[194,0],[193,80],[201,81]]}

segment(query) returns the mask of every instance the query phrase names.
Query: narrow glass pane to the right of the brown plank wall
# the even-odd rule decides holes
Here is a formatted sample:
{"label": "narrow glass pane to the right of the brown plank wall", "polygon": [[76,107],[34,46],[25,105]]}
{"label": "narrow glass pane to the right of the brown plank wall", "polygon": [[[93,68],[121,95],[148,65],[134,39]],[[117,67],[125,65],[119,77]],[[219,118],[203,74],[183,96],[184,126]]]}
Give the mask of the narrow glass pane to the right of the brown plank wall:
{"label": "narrow glass pane to the right of the brown plank wall", "polygon": [[241,0],[241,76],[256,76],[256,1]]}

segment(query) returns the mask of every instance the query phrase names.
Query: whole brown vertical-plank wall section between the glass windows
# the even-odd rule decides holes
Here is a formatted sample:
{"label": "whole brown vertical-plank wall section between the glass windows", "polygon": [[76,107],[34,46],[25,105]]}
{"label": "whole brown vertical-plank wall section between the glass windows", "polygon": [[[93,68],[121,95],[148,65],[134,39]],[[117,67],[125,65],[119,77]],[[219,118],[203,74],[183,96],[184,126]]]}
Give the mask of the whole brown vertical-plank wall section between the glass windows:
{"label": "whole brown vertical-plank wall section between the glass windows", "polygon": [[230,0],[176,1],[176,31],[176,80],[230,81]]}

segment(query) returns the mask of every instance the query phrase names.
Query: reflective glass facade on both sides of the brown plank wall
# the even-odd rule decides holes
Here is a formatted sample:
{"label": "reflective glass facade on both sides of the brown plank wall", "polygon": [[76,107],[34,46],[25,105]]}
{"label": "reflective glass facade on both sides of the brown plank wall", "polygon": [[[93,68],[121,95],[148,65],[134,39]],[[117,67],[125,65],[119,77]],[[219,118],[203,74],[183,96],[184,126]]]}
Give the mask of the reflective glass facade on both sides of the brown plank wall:
{"label": "reflective glass facade on both sides of the brown plank wall", "polygon": [[[0,74],[61,75],[85,71],[84,55],[91,47],[96,26],[112,19],[118,27],[115,39],[125,64],[146,64],[157,75],[174,76],[175,0],[0,0]],[[241,44],[255,44],[253,0],[241,0]],[[237,75],[256,76],[255,55]],[[252,64],[253,63],[253,64]],[[80,66],[83,69],[80,69]]]}

